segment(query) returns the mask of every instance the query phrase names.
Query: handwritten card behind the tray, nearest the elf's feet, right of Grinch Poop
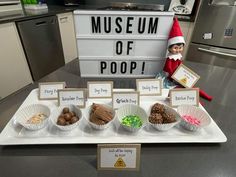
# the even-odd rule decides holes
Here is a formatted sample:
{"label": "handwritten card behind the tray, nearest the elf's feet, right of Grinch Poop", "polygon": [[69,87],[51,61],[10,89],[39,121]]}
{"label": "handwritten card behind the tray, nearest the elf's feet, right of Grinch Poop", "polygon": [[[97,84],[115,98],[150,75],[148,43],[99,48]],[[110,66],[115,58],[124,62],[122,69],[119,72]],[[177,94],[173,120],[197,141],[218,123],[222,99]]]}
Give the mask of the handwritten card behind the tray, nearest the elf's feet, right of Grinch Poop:
{"label": "handwritten card behind the tray, nearest the elf's feet, right of Grinch Poop", "polygon": [[137,79],[136,88],[140,95],[161,95],[161,80]]}

